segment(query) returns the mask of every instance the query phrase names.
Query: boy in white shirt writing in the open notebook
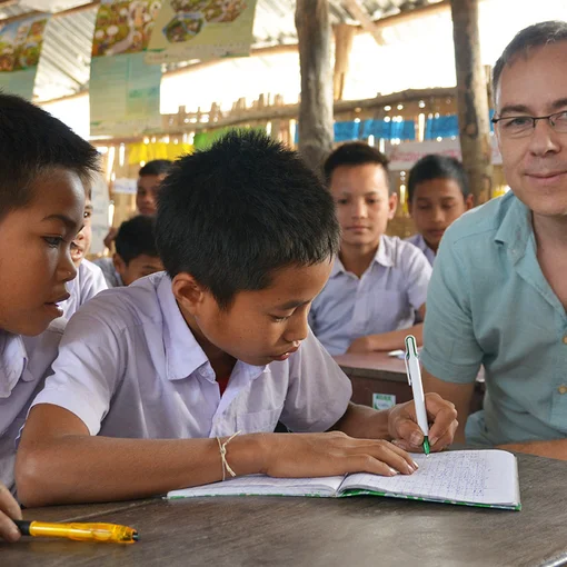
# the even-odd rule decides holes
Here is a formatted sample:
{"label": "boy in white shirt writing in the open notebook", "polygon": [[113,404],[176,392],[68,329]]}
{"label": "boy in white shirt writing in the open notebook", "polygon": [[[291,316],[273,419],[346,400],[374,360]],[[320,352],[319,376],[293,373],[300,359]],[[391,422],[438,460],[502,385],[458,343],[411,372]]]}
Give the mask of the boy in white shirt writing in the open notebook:
{"label": "boy in white shirt writing in the open notebook", "polygon": [[[22,501],[139,498],[231,471],[414,472],[389,442],[422,442],[412,402],[350,404],[350,381],[307,325],[338,242],[328,191],[266,135],[230,132],[180,159],[158,205],[167,272],[70,320],[22,432]],[[426,404],[440,450],[456,414],[436,395]],[[278,421],[297,432],[275,434]]]}

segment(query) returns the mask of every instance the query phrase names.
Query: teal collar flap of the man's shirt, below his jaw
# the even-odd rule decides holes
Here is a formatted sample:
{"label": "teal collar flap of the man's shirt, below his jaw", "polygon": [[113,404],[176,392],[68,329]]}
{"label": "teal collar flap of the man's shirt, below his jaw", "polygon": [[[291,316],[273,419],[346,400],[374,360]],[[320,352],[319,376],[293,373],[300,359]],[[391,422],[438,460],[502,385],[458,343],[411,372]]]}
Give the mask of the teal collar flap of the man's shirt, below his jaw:
{"label": "teal collar flap of the man's shirt, below his jaw", "polygon": [[[511,202],[508,205],[507,201]],[[501,198],[500,211],[503,216],[494,237],[495,242],[507,245],[514,260],[519,260],[534,235],[530,210],[509,191]]]}

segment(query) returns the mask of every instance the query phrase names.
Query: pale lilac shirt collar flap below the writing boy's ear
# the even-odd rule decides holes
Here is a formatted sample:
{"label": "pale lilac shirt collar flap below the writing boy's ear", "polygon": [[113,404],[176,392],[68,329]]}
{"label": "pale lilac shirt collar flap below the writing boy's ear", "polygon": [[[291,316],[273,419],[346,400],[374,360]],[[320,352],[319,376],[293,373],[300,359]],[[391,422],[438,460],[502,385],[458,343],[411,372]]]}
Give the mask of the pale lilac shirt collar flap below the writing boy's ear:
{"label": "pale lilac shirt collar flap below the writing boy's ear", "polygon": [[162,312],[163,348],[168,380],[181,380],[209,362],[177,305],[171,279],[163,273],[158,284],[158,301]]}

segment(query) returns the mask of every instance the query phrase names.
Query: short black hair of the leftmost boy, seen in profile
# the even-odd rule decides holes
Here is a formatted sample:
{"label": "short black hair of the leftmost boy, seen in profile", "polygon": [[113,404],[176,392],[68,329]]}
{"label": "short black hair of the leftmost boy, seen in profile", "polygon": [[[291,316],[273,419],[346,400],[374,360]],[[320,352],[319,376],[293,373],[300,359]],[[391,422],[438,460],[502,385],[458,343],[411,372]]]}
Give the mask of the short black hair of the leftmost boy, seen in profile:
{"label": "short black hair of the leftmost boy, seen in profile", "polygon": [[36,179],[53,168],[79,176],[88,192],[99,153],[49,112],[0,91],[0,218],[26,207]]}

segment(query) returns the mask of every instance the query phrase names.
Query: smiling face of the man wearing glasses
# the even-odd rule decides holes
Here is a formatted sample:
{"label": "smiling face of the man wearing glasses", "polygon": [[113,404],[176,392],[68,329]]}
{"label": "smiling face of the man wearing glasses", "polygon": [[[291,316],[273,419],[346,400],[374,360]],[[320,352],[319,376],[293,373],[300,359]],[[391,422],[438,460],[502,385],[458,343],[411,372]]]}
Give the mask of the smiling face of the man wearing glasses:
{"label": "smiling face of the man wearing glasses", "polygon": [[[567,41],[517,56],[500,76],[497,117],[547,116],[567,111]],[[506,179],[535,215],[567,216],[567,133],[538,120],[526,137],[496,126]]]}

